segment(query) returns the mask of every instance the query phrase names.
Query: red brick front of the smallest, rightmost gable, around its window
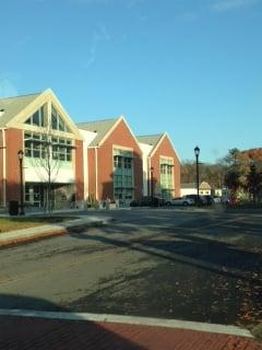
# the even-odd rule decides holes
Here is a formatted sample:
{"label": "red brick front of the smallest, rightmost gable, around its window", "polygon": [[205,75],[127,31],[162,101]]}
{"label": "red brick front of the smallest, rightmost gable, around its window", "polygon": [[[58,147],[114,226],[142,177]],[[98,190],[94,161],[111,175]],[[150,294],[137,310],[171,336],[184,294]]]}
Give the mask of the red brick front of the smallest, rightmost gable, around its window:
{"label": "red brick front of the smallest, rightmost gable, around its window", "polygon": [[[160,184],[160,156],[169,156],[174,159],[174,184],[175,184],[175,197],[180,196],[180,162],[177,154],[168,140],[167,137],[164,138],[160,145],[151,159],[151,166],[154,167],[154,182]],[[148,176],[150,178],[150,176]]]}

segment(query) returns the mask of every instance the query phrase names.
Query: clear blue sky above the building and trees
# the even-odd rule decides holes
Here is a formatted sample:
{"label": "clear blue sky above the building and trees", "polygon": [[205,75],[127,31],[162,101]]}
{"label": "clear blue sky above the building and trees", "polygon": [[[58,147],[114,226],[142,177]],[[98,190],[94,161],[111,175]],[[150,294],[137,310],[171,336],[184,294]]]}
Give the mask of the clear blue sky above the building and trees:
{"label": "clear blue sky above the building and trees", "polygon": [[0,96],[51,88],[76,122],[124,115],[181,160],[262,147],[262,0],[9,0]]}

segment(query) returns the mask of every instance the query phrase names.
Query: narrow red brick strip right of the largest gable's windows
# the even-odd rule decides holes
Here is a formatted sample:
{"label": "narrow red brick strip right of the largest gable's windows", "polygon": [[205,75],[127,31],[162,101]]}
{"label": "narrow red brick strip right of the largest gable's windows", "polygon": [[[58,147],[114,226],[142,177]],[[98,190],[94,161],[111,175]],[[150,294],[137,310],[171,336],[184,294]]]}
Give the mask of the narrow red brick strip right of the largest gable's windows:
{"label": "narrow red brick strip right of the largest gable's windows", "polygon": [[75,194],[76,200],[84,199],[83,141],[75,140]]}

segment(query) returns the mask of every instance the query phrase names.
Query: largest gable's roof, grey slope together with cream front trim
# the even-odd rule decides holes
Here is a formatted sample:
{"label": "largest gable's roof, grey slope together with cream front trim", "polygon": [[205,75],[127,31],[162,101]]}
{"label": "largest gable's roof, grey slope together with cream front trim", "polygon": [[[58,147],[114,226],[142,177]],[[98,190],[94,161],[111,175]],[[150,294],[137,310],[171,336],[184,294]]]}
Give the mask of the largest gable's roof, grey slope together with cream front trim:
{"label": "largest gable's roof, grey slope together with cream front trim", "polygon": [[[4,124],[2,127],[20,127],[35,110],[39,108],[40,105],[51,100],[51,103],[58,109],[61,117],[64,119],[64,121],[73,132],[74,137],[82,140],[82,136],[79,129],[76,128],[75,124],[71,120],[70,116],[68,115],[57,96],[53,94],[51,89],[47,89],[41,93],[26,96],[2,98],[0,100],[0,105],[3,100],[3,104],[7,107],[7,114],[4,110],[3,115],[0,117],[0,127],[1,118],[3,118],[2,122]],[[4,109],[4,106],[2,108]]]}

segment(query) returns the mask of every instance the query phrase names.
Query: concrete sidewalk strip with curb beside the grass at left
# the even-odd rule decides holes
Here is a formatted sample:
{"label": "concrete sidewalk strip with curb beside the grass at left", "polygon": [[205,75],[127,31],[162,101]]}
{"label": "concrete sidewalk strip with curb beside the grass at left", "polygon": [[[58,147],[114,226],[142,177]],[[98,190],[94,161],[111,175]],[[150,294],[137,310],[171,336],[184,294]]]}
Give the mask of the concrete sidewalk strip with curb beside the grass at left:
{"label": "concrete sidewalk strip with curb beside the grass at left", "polygon": [[15,230],[0,233],[0,246],[19,244],[23,242],[35,241],[44,237],[56,236],[67,233],[72,228],[88,228],[94,225],[108,224],[112,218],[110,217],[88,217],[69,220],[60,223],[33,226],[23,230]]}

